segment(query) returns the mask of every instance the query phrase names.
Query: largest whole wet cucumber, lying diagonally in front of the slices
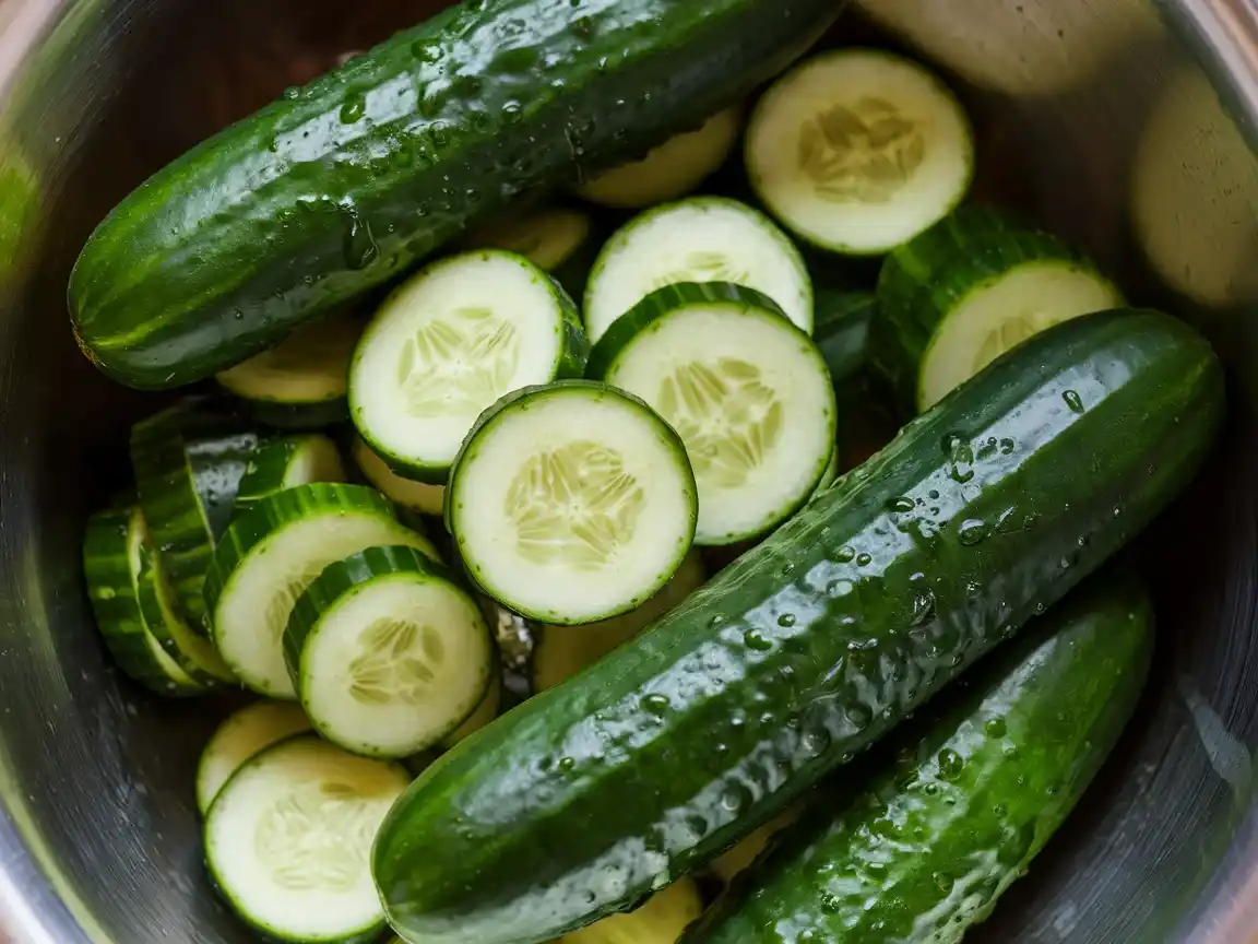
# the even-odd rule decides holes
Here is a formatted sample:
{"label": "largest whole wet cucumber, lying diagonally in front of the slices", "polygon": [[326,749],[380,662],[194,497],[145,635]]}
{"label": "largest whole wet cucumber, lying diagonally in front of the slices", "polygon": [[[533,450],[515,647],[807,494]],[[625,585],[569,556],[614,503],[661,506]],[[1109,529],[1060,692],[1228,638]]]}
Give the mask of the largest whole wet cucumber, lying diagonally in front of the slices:
{"label": "largest whole wet cucumber, lying diagonally in front of the slices", "polygon": [[654,627],[430,768],[376,841],[394,926],[541,941],[712,858],[1138,532],[1223,408],[1213,350],[1159,312],[1076,318],[998,359]]}

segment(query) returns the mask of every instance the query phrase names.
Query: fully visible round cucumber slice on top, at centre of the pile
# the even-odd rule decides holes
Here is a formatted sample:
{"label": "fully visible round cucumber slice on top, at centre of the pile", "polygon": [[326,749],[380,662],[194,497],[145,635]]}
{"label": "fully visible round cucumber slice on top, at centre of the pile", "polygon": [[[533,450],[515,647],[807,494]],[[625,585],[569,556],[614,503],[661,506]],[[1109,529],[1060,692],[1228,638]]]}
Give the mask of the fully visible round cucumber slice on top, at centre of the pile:
{"label": "fully visible round cucumber slice on top, at centre of the pile", "polygon": [[522,615],[626,613],[694,536],[694,477],[677,434],[639,400],[567,380],[504,396],[459,451],[447,525],[472,579]]}

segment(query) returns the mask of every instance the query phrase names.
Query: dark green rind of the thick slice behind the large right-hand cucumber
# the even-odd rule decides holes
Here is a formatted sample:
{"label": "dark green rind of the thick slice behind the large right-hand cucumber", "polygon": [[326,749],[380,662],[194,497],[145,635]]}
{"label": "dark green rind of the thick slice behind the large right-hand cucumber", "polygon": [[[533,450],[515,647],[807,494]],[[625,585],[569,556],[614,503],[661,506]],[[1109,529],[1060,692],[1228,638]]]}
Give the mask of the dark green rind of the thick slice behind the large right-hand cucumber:
{"label": "dark green rind of the thick slice behind the large right-hand cucumber", "polygon": [[1055,259],[1101,277],[1064,240],[984,205],[959,208],[887,256],[878,273],[869,360],[907,415],[918,412],[918,370],[952,310],[984,281],[1033,259]]}

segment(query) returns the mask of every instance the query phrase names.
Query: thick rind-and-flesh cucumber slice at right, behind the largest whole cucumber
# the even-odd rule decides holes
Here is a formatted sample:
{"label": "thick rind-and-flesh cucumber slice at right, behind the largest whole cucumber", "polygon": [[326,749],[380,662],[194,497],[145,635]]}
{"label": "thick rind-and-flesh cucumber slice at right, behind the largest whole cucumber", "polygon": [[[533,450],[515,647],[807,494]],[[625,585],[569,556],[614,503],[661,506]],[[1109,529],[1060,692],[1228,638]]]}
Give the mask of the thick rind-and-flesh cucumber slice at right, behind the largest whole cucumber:
{"label": "thick rind-and-flesh cucumber slice at right, behind the largest whole cucumber", "polygon": [[887,257],[871,356],[920,412],[1038,331],[1120,305],[1057,237],[965,208]]}

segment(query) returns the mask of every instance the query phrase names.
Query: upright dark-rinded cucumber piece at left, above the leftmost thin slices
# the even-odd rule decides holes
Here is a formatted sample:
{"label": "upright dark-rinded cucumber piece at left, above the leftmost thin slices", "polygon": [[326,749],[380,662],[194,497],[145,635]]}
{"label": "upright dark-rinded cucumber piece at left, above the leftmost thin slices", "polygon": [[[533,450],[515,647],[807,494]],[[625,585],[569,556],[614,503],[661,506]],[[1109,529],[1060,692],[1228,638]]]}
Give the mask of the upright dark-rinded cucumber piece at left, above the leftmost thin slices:
{"label": "upright dark-rinded cucumber piece at left, above the leftmost thin slices", "polygon": [[198,631],[205,621],[205,570],[257,448],[257,433],[199,404],[164,410],[131,430],[140,507],[179,605]]}

